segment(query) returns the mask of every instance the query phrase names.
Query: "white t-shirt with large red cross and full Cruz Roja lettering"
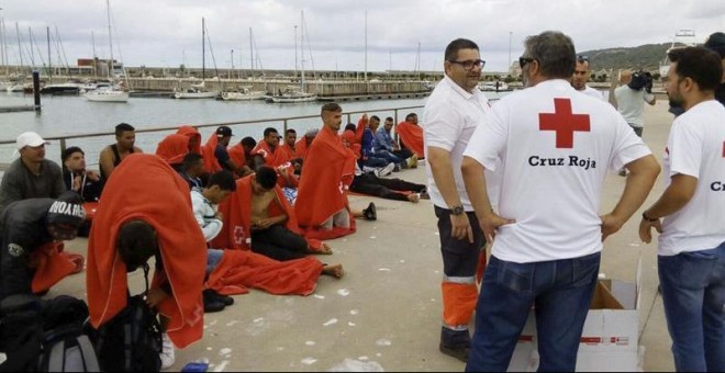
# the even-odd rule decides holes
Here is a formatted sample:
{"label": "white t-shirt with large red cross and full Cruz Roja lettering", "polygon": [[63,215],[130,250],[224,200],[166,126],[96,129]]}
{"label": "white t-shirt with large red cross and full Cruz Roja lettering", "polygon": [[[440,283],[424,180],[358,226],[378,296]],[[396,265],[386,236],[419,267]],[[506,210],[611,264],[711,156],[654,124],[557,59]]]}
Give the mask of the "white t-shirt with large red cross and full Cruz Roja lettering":
{"label": "white t-shirt with large red cross and full Cruz Roja lettering", "polygon": [[502,98],[464,152],[501,174],[499,215],[516,221],[499,228],[492,253],[526,263],[600,251],[606,169],[649,154],[612,105],[566,80]]}

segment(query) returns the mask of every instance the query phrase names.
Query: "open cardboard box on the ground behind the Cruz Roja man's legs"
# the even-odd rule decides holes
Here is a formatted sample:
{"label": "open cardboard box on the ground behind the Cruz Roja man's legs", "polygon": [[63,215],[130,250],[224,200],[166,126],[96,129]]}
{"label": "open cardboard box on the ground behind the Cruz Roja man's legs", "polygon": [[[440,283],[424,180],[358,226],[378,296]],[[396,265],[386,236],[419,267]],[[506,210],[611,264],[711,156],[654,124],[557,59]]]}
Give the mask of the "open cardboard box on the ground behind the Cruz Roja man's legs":
{"label": "open cardboard box on the ground behind the Cruz Roja man's legs", "polygon": [[[640,357],[639,290],[642,262],[635,283],[599,280],[584,321],[577,357],[578,372],[635,372]],[[509,364],[510,372],[538,368],[536,320],[532,309]]]}

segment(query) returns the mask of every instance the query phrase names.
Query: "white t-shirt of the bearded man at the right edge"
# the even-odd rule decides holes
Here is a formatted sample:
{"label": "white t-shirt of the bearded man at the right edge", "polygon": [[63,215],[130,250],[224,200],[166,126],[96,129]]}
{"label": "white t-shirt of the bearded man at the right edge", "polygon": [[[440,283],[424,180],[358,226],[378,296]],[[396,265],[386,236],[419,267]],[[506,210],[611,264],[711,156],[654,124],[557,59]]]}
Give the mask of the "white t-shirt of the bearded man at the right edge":
{"label": "white t-shirt of the bearded man at the right edge", "polygon": [[714,249],[725,241],[725,108],[711,100],[678,116],[662,161],[667,184],[688,174],[698,188],[682,210],[665,217],[658,253]]}

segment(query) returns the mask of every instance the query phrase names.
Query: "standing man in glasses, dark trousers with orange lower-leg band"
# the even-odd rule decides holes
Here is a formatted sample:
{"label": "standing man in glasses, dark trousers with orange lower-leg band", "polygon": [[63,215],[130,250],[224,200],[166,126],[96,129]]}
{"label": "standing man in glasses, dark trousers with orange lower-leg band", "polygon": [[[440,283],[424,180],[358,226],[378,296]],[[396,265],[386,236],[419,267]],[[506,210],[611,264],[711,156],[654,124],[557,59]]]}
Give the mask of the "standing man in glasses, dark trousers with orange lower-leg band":
{"label": "standing man in glasses, dark trousers with orange lower-leg band", "polygon": [[443,256],[443,326],[440,352],[468,360],[468,324],[476,308],[476,273],[486,245],[460,176],[468,139],[490,111],[478,89],[481,69],[478,45],[458,38],[445,52],[445,77],[435,87],[423,112],[423,145],[427,191],[438,219]]}

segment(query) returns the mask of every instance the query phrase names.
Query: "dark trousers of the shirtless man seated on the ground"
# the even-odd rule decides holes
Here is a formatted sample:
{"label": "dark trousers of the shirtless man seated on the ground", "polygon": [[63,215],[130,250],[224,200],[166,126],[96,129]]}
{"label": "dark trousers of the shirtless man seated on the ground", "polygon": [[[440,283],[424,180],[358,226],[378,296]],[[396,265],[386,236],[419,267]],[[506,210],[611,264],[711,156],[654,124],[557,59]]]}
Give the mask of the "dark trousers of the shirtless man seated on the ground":
{"label": "dark trousers of the shirtless man seated on the ground", "polygon": [[252,231],[252,251],[279,261],[306,257],[310,251],[304,237],[281,224]]}

